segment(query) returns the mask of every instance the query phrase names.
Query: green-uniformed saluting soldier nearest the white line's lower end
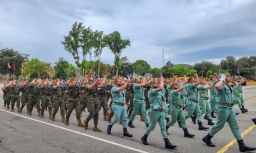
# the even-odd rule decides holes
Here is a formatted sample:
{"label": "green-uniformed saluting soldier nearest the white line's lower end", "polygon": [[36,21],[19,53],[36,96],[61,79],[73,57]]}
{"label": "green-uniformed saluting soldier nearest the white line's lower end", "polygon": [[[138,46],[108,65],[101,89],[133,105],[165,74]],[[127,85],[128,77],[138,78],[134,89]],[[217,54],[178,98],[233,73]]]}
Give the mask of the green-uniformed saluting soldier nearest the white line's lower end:
{"label": "green-uniformed saluting soldier nearest the white line's lower end", "polygon": [[158,122],[161,128],[163,140],[165,141],[165,148],[173,149],[176,148],[177,146],[170,143],[165,127],[165,106],[162,101],[165,95],[161,93],[161,90],[163,90],[163,77],[160,77],[159,81],[159,87],[157,79],[154,79],[150,84],[151,89],[150,91],[148,91],[148,99],[150,100],[150,111],[148,112],[150,116],[150,126],[148,126],[144,136],[141,137],[141,141],[143,142],[143,144],[148,145],[147,137],[150,134],[150,132],[155,128],[155,125],[157,125]]}

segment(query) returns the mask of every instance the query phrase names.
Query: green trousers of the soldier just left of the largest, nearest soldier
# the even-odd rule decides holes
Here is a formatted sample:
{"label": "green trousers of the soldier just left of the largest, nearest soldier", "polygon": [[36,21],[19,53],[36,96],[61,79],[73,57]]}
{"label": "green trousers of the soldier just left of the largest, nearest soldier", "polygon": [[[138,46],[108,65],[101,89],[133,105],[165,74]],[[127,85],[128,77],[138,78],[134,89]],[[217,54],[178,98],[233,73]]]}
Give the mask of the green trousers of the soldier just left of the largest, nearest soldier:
{"label": "green trousers of the soldier just left of the largest, nearest soldier", "polygon": [[194,112],[197,117],[197,122],[202,122],[199,104],[191,101],[190,99],[187,99],[187,114],[185,115],[185,118],[190,118],[194,114]]}

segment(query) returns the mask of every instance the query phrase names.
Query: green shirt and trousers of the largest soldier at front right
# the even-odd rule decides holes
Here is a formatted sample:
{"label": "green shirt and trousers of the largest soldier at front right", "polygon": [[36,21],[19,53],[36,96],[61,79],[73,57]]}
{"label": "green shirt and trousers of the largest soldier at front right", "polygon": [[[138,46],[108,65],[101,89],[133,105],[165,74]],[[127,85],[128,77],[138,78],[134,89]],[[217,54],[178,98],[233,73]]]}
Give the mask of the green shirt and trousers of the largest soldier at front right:
{"label": "green shirt and trousers of the largest soldier at front right", "polygon": [[223,83],[221,90],[218,91],[218,101],[216,104],[217,121],[209,131],[210,136],[214,136],[218,133],[227,121],[234,137],[237,140],[242,140],[232,105],[232,88]]}

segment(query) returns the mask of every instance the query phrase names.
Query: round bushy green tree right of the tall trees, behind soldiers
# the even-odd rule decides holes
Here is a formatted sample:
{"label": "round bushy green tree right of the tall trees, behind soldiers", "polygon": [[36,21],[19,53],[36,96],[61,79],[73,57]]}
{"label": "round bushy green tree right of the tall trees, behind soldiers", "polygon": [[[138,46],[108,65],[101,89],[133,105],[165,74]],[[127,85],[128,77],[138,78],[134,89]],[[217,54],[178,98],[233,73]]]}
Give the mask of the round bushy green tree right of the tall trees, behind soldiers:
{"label": "round bushy green tree right of the tall trees, behind soldiers", "polygon": [[137,75],[144,75],[150,72],[150,64],[148,64],[147,61],[137,60],[133,63],[133,66],[134,66],[134,72]]}

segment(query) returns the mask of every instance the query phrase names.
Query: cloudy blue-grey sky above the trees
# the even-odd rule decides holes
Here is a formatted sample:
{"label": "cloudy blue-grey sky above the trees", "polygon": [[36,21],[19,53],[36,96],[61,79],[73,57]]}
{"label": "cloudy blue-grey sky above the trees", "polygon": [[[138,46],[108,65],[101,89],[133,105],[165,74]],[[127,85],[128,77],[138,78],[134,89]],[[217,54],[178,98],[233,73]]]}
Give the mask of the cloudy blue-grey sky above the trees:
{"label": "cloudy blue-grey sky above the trees", "polygon": [[[61,41],[77,21],[130,39],[121,56],[131,63],[143,59],[162,67],[163,49],[165,63],[218,64],[226,56],[256,56],[255,8],[254,0],[0,0],[0,49],[74,63]],[[105,48],[102,61],[113,64],[113,59]]]}

